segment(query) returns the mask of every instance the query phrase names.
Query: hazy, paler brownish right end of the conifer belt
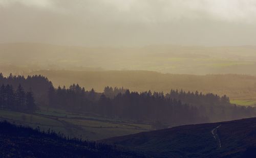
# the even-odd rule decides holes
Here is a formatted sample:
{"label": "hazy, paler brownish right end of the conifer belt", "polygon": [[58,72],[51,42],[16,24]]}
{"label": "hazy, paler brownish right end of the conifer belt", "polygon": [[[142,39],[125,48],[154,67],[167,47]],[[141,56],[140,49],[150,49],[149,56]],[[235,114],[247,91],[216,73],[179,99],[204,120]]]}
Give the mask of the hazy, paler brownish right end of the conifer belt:
{"label": "hazy, paler brownish right end of the conifer belt", "polygon": [[256,116],[256,108],[236,106],[230,104],[229,97],[212,93],[202,94],[198,91],[185,92],[183,90],[170,90],[167,98],[181,100],[198,108],[202,116],[207,116],[211,122],[234,120]]}

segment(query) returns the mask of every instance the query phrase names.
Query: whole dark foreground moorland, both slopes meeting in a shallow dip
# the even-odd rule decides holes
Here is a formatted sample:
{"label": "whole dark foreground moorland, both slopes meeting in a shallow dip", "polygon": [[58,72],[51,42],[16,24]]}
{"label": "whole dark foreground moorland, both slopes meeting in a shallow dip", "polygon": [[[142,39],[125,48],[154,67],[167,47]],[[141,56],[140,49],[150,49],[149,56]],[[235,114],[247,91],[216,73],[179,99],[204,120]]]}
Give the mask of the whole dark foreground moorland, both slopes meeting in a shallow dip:
{"label": "whole dark foreground moorland, both slopes meeting in a shallow dip", "polygon": [[97,142],[0,122],[0,156],[255,157],[256,118],[177,126]]}

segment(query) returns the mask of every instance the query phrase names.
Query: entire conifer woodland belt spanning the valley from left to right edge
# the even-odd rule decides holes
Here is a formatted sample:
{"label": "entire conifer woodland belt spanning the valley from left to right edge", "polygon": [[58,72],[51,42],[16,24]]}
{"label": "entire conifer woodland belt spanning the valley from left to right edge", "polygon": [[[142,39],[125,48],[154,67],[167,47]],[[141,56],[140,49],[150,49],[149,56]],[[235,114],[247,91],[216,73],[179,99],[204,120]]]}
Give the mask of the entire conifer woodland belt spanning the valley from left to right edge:
{"label": "entire conifer woodland belt spanning the valley from left to right edge", "polygon": [[[35,107],[57,108],[67,111],[90,112],[102,117],[122,118],[136,121],[158,121],[168,125],[216,122],[256,116],[256,108],[236,106],[226,95],[170,90],[163,92],[136,92],[125,88],[105,87],[99,93],[86,90],[78,84],[57,87],[44,76],[0,75],[1,98],[13,95],[13,104],[2,108],[33,112]],[[11,89],[11,90],[10,90]],[[17,103],[22,92],[22,104]],[[34,97],[32,97],[34,96]],[[35,104],[30,104],[35,99]],[[9,99],[10,100],[10,99]],[[12,106],[13,105],[13,106]],[[22,108],[26,107],[26,108]]]}

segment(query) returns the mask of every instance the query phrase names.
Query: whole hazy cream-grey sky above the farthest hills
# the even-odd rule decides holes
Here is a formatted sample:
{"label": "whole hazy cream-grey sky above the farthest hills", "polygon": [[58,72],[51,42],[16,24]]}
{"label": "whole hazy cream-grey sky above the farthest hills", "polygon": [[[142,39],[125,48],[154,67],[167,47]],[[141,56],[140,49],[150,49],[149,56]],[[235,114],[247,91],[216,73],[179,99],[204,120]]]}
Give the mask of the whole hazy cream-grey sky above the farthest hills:
{"label": "whole hazy cream-grey sky above the farthest hills", "polygon": [[256,0],[0,0],[0,42],[255,45]]}

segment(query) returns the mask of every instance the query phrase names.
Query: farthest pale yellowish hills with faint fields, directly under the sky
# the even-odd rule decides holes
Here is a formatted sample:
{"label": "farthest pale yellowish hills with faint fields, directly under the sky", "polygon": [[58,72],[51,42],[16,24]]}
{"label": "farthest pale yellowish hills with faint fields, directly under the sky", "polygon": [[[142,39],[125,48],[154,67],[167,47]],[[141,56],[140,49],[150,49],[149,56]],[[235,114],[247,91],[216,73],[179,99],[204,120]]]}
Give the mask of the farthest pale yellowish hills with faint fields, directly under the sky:
{"label": "farthest pale yellowish hills with faint fields, directly under the sky", "polygon": [[[0,44],[0,64],[30,70],[147,70],[178,74],[238,73],[255,75],[254,46],[82,47],[41,43]],[[1,67],[0,67],[1,68]],[[3,72],[3,71],[2,71]],[[20,71],[19,71],[20,72]]]}

